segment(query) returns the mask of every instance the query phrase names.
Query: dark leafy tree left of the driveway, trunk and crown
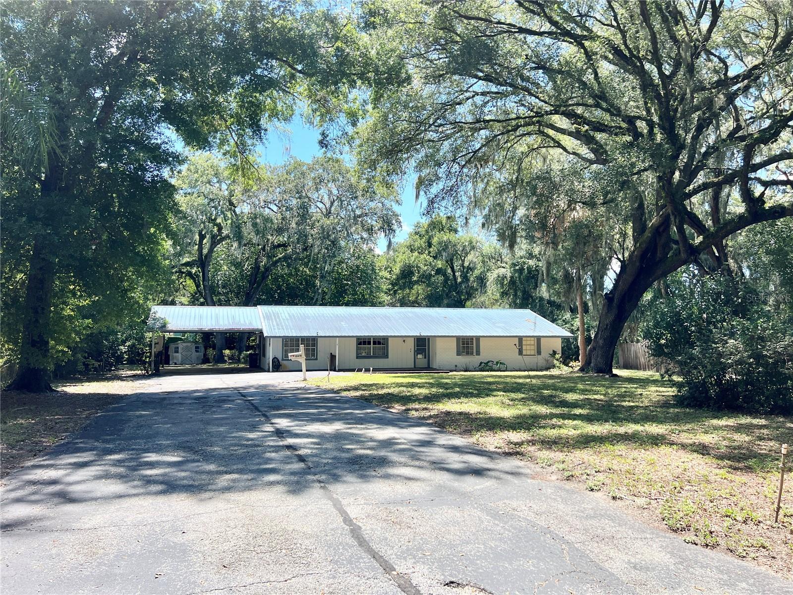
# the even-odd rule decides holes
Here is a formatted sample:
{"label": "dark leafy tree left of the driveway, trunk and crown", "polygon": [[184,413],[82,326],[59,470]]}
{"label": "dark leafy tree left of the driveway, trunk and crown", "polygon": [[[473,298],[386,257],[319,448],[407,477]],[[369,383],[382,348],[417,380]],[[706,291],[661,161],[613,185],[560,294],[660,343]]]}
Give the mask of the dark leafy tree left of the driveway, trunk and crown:
{"label": "dark leafy tree left of the driveway, trunk and crown", "polygon": [[19,336],[4,344],[19,350],[21,390],[49,388],[59,279],[70,291],[104,276],[82,283],[84,298],[123,305],[159,261],[175,137],[247,155],[300,100],[333,117],[366,71],[343,16],[293,2],[3,2],[0,30],[16,97],[38,98],[56,124],[36,167],[28,146],[2,142],[4,259],[24,285],[10,294]]}

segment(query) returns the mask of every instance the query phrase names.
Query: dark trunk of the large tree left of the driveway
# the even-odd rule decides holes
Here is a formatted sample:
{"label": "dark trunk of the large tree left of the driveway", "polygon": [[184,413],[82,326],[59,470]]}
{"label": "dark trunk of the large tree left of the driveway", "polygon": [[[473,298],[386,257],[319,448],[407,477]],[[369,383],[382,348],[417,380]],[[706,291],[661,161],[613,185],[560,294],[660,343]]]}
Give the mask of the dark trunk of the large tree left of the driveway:
{"label": "dark trunk of the large tree left of the driveway", "polygon": [[32,393],[47,392],[50,386],[49,336],[52,290],[55,286],[55,255],[48,244],[36,241],[30,257],[19,371],[8,387]]}

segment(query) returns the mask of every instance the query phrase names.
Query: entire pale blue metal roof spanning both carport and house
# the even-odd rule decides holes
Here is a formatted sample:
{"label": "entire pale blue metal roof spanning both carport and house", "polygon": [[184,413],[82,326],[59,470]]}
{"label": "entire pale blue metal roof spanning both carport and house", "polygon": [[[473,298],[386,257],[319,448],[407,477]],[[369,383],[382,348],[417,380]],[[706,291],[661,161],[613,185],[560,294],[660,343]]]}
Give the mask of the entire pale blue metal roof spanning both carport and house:
{"label": "entire pale blue metal roof spanning both carport and house", "polygon": [[155,305],[149,328],[163,332],[264,332],[275,337],[572,337],[564,328],[531,310],[485,308]]}

